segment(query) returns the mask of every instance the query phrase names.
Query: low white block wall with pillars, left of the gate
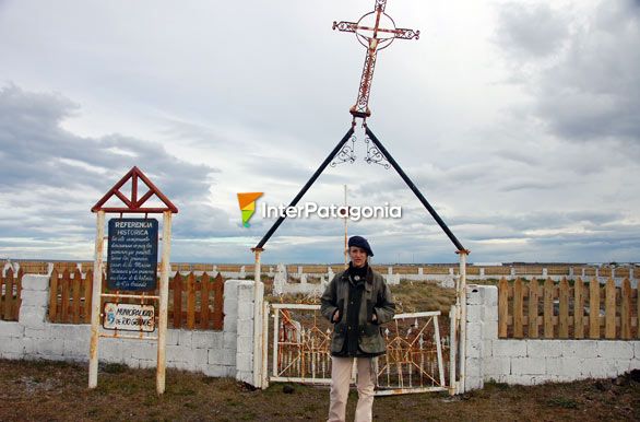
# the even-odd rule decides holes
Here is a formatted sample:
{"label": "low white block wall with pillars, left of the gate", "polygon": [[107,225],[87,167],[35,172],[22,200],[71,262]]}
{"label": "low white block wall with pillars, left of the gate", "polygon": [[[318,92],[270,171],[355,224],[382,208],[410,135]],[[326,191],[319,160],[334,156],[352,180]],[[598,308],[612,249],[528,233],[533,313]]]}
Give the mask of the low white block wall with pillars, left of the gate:
{"label": "low white block wall with pillars, left of the gate", "polygon": [[[24,276],[22,286],[17,323],[0,321],[0,357],[88,362],[90,325],[47,321],[49,277]],[[167,366],[250,380],[253,281],[227,280],[223,312],[222,331],[169,329]],[[156,344],[152,340],[100,338],[99,362],[155,367]]]}

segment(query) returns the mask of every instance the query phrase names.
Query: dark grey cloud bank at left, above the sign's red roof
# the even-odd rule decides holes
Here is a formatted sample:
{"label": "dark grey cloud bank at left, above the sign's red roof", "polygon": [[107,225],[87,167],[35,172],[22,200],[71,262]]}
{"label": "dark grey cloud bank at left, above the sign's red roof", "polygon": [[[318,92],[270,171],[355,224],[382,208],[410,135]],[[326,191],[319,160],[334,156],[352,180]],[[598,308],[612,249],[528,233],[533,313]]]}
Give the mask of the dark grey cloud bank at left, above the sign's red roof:
{"label": "dark grey cloud bank at left, above the sign's red roof", "polygon": [[[157,142],[110,134],[81,138],[60,127],[78,106],[59,94],[24,92],[16,85],[0,91],[0,176],[13,188],[47,180],[52,186],[85,186],[106,191],[112,174],[133,165],[153,175],[170,197],[206,192],[213,167],[169,155]],[[109,172],[109,175],[106,173]],[[106,176],[106,177],[105,177]]]}

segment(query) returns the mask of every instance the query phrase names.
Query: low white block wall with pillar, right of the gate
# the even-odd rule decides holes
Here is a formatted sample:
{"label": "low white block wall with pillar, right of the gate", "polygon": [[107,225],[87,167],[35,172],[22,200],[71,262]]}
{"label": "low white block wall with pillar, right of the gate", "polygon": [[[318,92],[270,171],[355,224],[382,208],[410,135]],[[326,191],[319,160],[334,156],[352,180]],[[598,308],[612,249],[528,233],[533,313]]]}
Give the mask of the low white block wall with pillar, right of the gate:
{"label": "low white block wall with pillar, right of the gate", "polygon": [[609,378],[640,368],[639,340],[498,339],[498,289],[466,291],[465,389],[484,382],[533,385]]}

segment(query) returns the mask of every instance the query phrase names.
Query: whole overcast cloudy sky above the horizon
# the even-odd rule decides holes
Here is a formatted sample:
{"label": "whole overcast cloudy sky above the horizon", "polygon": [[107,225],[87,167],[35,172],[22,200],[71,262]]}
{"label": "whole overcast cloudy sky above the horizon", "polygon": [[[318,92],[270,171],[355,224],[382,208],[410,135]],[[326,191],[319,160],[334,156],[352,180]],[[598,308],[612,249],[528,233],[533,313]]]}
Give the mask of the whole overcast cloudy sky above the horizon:
{"label": "whole overcast cloudy sky above the horizon", "polygon": [[[249,262],[351,124],[374,0],[0,0],[0,258],[92,259],[91,207],[133,165],[179,208],[171,258]],[[471,261],[638,261],[640,2],[389,0],[420,30],[378,56],[369,127]],[[349,222],[377,262],[455,261],[391,169],[329,167],[304,198],[401,206]],[[287,220],[266,262],[336,262],[341,220]]]}

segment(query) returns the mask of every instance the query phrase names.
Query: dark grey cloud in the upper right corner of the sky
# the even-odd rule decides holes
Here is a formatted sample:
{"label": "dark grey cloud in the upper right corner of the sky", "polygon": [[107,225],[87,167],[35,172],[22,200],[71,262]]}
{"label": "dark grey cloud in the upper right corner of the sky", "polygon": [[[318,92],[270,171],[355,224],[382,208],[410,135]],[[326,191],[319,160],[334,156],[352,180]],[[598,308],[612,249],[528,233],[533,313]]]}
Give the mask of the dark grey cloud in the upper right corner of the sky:
{"label": "dark grey cloud in the upper right corner of the sky", "polygon": [[[498,36],[508,54],[519,51],[518,59],[533,66],[522,79],[534,97],[530,113],[550,132],[574,141],[617,139],[618,148],[631,149],[638,156],[637,1],[602,1],[586,20],[547,5],[509,4],[500,14]],[[540,60],[552,51],[556,59]]]}

